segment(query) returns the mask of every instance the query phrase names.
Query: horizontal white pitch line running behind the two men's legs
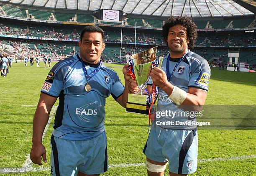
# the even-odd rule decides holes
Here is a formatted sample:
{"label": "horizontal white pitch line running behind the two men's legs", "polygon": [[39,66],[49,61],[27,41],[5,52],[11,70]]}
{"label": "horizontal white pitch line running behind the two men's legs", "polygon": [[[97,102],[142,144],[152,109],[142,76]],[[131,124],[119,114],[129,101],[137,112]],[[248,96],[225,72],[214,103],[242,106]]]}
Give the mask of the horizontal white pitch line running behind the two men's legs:
{"label": "horizontal white pitch line running behind the two men's legs", "polygon": [[[208,158],[208,159],[199,159],[198,163],[205,163],[205,162],[214,162],[214,161],[234,161],[234,160],[246,160],[256,158],[256,155],[245,155],[245,156],[231,156],[228,158]],[[122,163],[122,164],[110,164],[108,165],[109,168],[125,168],[125,167],[138,167],[138,166],[145,166],[145,163]],[[39,167],[33,168],[29,171],[38,172],[38,171],[50,171],[50,168]]]}

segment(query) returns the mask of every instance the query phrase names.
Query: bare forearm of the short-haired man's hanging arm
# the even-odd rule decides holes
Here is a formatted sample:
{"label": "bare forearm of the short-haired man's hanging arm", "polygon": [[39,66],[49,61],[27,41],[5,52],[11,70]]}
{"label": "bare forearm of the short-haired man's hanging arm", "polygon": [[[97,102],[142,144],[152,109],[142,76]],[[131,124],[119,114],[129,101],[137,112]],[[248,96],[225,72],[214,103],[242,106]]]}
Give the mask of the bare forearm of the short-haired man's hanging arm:
{"label": "bare forearm of the short-haired man's hanging arm", "polygon": [[49,120],[51,108],[46,107],[45,104],[41,103],[38,104],[36,108],[36,112],[33,119],[33,138],[32,143],[33,145],[40,144],[42,142],[42,136],[44,133],[44,129],[46,124]]}

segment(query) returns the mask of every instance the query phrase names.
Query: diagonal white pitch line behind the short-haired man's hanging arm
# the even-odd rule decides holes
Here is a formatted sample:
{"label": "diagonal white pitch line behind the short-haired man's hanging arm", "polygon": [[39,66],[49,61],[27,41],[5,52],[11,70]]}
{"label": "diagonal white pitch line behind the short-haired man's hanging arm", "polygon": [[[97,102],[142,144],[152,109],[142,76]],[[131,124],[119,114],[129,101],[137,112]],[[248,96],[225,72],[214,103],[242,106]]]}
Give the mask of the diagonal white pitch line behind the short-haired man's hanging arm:
{"label": "diagonal white pitch line behind the short-haired man's hanging arm", "polygon": [[[52,109],[51,109],[51,113],[50,113],[50,116],[49,116],[49,120],[48,120],[48,122],[47,122],[47,124],[46,124],[46,127],[45,127],[45,129],[44,129],[44,133],[43,133],[43,138],[42,138],[42,140],[44,140],[44,136],[46,135],[46,132],[47,132],[47,130],[48,130],[50,124],[51,124],[51,120],[52,120],[52,118],[54,117],[54,114],[55,114],[55,112],[56,112],[56,109],[57,109],[57,106],[53,106]],[[25,161],[25,163],[23,164],[22,167],[27,168],[27,171],[38,171],[38,169],[40,169],[40,171],[49,171],[49,168],[42,168],[42,167],[40,167],[40,168],[33,168],[33,167],[32,167],[33,163],[32,163],[32,161],[30,160],[30,153],[28,153],[28,154],[26,155],[26,158],[27,158],[27,159],[26,159],[26,161]]]}

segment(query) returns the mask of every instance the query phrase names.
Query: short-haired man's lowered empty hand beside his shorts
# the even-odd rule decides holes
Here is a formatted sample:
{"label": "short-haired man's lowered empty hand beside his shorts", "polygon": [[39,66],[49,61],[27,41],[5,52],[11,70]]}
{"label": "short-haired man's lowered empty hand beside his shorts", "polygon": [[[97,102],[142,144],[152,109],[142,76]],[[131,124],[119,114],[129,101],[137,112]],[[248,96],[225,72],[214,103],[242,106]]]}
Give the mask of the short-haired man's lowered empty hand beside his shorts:
{"label": "short-haired man's lowered empty hand beside his shorts", "polygon": [[38,164],[38,165],[43,165],[41,163],[42,159],[43,159],[44,163],[47,162],[46,150],[42,143],[37,144],[37,145],[32,145],[32,148],[30,150],[30,159],[33,163]]}

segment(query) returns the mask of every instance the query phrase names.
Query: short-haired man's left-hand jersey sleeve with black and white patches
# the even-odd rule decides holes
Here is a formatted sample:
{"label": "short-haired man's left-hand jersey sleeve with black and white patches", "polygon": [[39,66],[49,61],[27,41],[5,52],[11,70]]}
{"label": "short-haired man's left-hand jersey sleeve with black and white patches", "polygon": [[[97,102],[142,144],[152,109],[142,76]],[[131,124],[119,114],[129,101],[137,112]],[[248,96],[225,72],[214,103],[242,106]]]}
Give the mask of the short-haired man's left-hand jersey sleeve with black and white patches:
{"label": "short-haired man's left-hand jersey sleeve with black and white patches", "polygon": [[54,71],[54,67],[48,73],[41,92],[52,97],[59,97],[63,89],[63,81],[61,71]]}

